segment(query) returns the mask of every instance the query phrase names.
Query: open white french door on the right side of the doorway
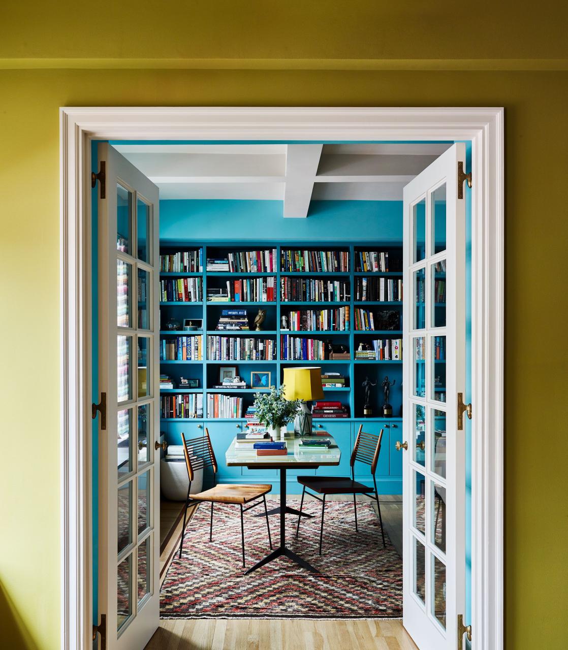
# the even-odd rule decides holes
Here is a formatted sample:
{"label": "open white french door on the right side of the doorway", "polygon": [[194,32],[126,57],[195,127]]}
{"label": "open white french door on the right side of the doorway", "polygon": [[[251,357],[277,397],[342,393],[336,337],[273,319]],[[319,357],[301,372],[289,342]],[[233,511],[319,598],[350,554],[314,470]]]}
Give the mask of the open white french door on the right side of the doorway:
{"label": "open white french door on the right side of the doorway", "polygon": [[[455,650],[465,614],[465,190],[454,144],[404,188],[403,624]],[[462,181],[463,182],[463,181]]]}

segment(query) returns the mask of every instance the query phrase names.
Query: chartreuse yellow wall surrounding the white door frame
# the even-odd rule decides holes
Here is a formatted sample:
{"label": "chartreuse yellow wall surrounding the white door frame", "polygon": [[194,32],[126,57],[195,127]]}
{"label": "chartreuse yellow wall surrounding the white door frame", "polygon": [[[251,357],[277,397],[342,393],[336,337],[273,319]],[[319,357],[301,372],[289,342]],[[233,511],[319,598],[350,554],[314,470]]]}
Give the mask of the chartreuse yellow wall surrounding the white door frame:
{"label": "chartreuse yellow wall surrounding the white door frame", "polygon": [[60,643],[58,109],[79,105],[506,107],[506,647],[564,647],[566,6],[55,6],[0,23],[0,647]]}

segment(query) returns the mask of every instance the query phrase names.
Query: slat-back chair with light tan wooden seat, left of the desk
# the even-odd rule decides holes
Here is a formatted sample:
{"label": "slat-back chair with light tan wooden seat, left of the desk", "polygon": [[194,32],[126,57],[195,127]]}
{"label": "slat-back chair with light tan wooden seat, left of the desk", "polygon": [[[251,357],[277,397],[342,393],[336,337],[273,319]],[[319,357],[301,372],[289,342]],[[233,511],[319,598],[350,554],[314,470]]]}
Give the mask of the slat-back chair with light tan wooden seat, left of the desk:
{"label": "slat-back chair with light tan wooden seat, left of the desk", "polygon": [[[211,523],[209,528],[209,541],[213,539],[213,504],[214,503],[232,503],[239,506],[241,510],[241,544],[243,548],[243,567],[245,566],[245,527],[243,525],[243,513],[251,508],[264,503],[264,513],[266,516],[266,527],[268,528],[268,542],[272,549],[272,539],[270,536],[270,524],[268,521],[268,512],[266,510],[266,495],[271,491],[272,486],[269,484],[261,485],[232,485],[221,484],[215,485],[215,474],[217,473],[217,460],[215,459],[215,452],[211,446],[211,439],[209,437],[208,428],[205,429],[205,434],[198,438],[190,440],[185,439],[182,433],[183,454],[185,456],[185,465],[187,465],[187,474],[189,474],[189,486],[187,487],[187,499],[185,500],[185,512],[183,513],[183,528],[182,528],[182,541],[180,542],[180,558],[182,557],[183,550],[183,537],[185,535],[185,522],[187,519],[187,508],[195,506],[201,502],[211,503]],[[213,469],[213,487],[204,490],[198,494],[190,495],[191,481],[196,469],[203,469],[211,467]],[[262,497],[262,499],[260,499]],[[254,499],[260,499],[247,508],[243,508],[245,504],[249,504]]]}

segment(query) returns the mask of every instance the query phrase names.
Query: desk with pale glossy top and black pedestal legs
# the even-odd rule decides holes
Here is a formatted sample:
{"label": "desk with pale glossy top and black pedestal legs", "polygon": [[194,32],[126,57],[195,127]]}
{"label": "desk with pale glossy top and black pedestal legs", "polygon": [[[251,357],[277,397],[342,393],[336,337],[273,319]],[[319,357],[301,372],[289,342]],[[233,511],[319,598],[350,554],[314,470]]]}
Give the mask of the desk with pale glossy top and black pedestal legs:
{"label": "desk with pale glossy top and black pedestal legs", "polygon": [[[286,454],[286,456],[257,456],[256,450],[252,448],[237,449],[235,446],[236,438],[226,450],[225,460],[228,467],[280,470],[280,508],[275,508],[269,512],[269,514],[280,513],[280,546],[260,560],[260,562],[257,562],[253,567],[250,567],[250,569],[246,571],[245,575],[259,569],[281,555],[290,558],[290,560],[293,560],[304,569],[308,569],[308,571],[319,573],[318,569],[314,569],[312,565],[308,564],[308,562],[303,560],[299,555],[290,551],[290,549],[286,547],[286,514],[293,514],[296,516],[300,514],[298,510],[289,508],[286,505],[286,470],[288,468],[316,469],[321,465],[339,465],[341,460],[341,450],[331,435],[325,434],[305,437],[305,439],[308,440],[321,440],[323,438],[331,439],[331,447],[325,451],[302,449],[299,445],[301,438],[286,437],[286,445],[288,446],[288,454]],[[305,515],[305,513],[302,514],[304,516],[311,516]],[[262,516],[264,517],[264,515]]]}

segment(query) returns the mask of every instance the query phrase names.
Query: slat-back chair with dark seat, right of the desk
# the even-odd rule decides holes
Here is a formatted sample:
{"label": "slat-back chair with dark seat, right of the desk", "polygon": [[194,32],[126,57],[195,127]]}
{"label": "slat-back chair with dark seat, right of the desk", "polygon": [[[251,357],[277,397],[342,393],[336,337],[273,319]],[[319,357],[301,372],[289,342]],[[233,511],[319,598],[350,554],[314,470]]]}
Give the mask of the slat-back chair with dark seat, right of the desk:
{"label": "slat-back chair with dark seat, right of the desk", "polygon": [[[355,530],[358,532],[357,525],[357,499],[358,494],[364,494],[370,499],[377,502],[379,509],[379,522],[381,523],[381,534],[383,536],[383,547],[386,546],[385,531],[383,530],[383,518],[381,517],[381,504],[379,503],[379,493],[377,491],[377,479],[375,478],[375,471],[377,470],[377,461],[379,460],[379,453],[381,452],[381,440],[383,439],[383,429],[379,435],[366,434],[363,430],[363,425],[359,426],[357,432],[357,439],[351,452],[351,478],[344,476],[298,476],[298,482],[303,486],[302,500],[300,502],[300,514],[298,515],[298,524],[296,526],[296,538],[300,530],[300,521],[302,519],[302,508],[304,505],[304,495],[310,495],[314,499],[321,501],[321,528],[319,529],[319,554],[321,555],[321,541],[323,539],[323,515],[325,513],[325,497],[329,494],[353,494],[353,509],[355,511]],[[355,480],[355,461],[371,465],[371,474],[373,476],[373,484],[375,486],[374,494],[373,488],[368,487]],[[306,491],[306,488],[323,495],[318,495]]]}

